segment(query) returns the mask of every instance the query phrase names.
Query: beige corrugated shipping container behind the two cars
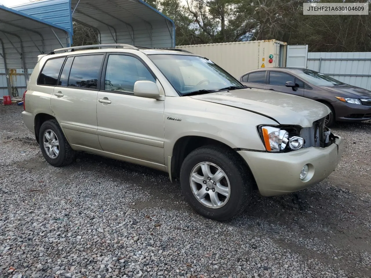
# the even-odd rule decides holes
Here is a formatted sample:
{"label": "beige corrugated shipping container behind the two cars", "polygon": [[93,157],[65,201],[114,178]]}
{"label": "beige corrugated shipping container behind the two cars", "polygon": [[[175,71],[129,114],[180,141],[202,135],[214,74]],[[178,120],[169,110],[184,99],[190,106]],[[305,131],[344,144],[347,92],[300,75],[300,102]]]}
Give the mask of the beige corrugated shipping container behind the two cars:
{"label": "beige corrugated shipping container behind the two cars", "polygon": [[263,67],[286,66],[286,43],[278,40],[177,46],[206,57],[234,77]]}

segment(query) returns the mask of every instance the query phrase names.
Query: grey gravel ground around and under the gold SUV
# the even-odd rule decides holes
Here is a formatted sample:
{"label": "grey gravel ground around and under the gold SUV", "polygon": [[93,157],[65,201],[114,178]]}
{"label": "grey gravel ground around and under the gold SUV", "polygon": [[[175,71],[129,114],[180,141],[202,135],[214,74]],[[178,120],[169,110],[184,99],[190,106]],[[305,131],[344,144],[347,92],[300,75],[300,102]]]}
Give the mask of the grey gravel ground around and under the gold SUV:
{"label": "grey gravel ground around and under the gold SUV", "polygon": [[165,173],[85,153],[53,168],[21,111],[0,106],[0,278],[371,277],[371,122],[333,128],[325,181],[220,223]]}

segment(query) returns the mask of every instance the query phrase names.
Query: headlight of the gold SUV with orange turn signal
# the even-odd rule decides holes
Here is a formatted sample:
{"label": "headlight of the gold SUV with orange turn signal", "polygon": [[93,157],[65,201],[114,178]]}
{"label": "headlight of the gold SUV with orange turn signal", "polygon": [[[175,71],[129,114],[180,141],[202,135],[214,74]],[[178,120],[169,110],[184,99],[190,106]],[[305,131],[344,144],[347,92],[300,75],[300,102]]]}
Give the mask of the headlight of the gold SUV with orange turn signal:
{"label": "headlight of the gold SUV with orange turn signal", "polygon": [[286,148],[298,150],[304,145],[304,139],[298,136],[289,138],[289,133],[286,130],[275,128],[273,126],[262,126],[263,143],[269,152],[280,152]]}

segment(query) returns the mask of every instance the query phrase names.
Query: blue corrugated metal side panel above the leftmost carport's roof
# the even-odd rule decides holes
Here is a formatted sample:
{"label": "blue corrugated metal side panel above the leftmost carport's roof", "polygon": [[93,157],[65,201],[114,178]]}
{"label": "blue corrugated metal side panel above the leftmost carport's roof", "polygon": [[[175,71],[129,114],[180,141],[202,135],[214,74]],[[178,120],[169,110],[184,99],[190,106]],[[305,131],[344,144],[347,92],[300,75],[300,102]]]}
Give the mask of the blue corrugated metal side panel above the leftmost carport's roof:
{"label": "blue corrugated metal side panel above the leftmost carport's roof", "polygon": [[11,7],[36,17],[48,24],[62,27],[73,35],[72,13],[70,0],[44,0]]}

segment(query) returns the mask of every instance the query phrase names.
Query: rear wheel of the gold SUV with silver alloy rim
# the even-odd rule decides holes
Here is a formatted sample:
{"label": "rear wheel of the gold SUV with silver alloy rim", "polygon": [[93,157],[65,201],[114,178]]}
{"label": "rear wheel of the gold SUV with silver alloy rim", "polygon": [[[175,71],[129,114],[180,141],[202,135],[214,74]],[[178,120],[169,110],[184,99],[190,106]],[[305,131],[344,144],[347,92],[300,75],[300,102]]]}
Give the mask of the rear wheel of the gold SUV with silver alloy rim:
{"label": "rear wheel of the gold SUV with silver alloy rim", "polygon": [[55,167],[69,165],[75,159],[75,151],[56,120],[43,122],[39,131],[39,145],[46,161]]}

